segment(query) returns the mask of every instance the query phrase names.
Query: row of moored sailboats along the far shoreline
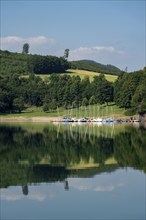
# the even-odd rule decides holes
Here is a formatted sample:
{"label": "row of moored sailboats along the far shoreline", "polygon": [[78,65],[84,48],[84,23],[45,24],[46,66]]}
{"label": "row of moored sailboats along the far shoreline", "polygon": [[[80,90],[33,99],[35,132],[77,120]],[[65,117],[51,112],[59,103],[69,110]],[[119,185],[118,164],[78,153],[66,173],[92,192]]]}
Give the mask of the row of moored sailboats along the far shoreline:
{"label": "row of moored sailboats along the far shoreline", "polygon": [[63,118],[62,122],[98,122],[98,123],[122,123],[122,122],[140,122],[139,119],[113,119],[113,118]]}

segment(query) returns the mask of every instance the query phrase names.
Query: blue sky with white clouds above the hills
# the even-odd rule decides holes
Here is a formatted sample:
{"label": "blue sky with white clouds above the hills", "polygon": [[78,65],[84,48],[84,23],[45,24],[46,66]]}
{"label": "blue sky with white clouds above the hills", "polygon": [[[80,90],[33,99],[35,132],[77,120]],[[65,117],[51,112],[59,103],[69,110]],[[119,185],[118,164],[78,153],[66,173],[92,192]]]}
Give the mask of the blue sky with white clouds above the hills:
{"label": "blue sky with white clouds above the hills", "polygon": [[1,49],[92,59],[128,71],[145,64],[145,0],[1,0]]}

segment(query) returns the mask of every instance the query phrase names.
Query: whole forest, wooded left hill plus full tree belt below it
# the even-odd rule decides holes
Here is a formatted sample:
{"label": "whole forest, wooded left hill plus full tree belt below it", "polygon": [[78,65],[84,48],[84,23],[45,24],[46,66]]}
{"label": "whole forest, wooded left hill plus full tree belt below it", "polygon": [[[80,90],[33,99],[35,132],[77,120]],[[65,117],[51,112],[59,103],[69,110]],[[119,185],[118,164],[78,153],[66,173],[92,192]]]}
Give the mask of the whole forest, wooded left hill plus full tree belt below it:
{"label": "whole forest, wooded left hill plus full tree belt below it", "polygon": [[[79,76],[60,75],[70,67],[64,57],[0,52],[2,114],[21,112],[30,106],[42,106],[44,111],[50,111],[110,102],[125,108],[129,114],[146,113],[146,68],[121,72],[114,83],[107,81],[104,74],[94,76],[90,82],[88,76],[81,80]],[[29,77],[24,77],[28,73]],[[48,74],[44,80],[37,76],[41,73]]]}

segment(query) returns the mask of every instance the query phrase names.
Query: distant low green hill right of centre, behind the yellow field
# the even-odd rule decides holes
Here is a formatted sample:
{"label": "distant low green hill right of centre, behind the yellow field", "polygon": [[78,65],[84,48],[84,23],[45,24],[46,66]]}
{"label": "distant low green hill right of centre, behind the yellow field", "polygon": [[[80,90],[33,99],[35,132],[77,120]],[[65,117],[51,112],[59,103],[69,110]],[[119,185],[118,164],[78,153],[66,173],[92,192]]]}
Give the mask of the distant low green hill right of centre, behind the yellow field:
{"label": "distant low green hill right of centre, behind the yellow field", "polygon": [[110,74],[110,75],[119,75],[122,71],[111,64],[101,64],[93,60],[79,60],[71,61],[71,69],[81,69],[88,70],[98,73]]}

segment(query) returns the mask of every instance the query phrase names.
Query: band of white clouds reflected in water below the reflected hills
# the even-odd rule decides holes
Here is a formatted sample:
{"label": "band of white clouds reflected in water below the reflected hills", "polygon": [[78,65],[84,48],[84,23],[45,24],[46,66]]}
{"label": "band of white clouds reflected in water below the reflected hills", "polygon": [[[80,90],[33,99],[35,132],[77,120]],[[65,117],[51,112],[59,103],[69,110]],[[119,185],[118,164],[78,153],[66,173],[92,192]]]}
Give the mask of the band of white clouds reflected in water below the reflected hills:
{"label": "band of white clouds reflected in water below the reflected hills", "polygon": [[[57,197],[61,193],[63,187],[65,190],[72,190],[78,192],[113,192],[118,189],[124,189],[127,185],[126,176],[132,179],[134,172],[132,169],[117,169],[114,175],[110,174],[96,174],[94,178],[91,177],[68,177],[63,182],[56,181],[55,183],[40,183],[40,184],[26,184],[14,187],[11,186],[1,191],[1,199],[7,201],[16,201],[28,197],[29,200],[45,201],[54,197]],[[140,173],[136,173],[137,177],[141,177]],[[143,179],[144,180],[144,179]],[[129,183],[130,184],[130,183]],[[141,183],[142,184],[142,183]]]}

